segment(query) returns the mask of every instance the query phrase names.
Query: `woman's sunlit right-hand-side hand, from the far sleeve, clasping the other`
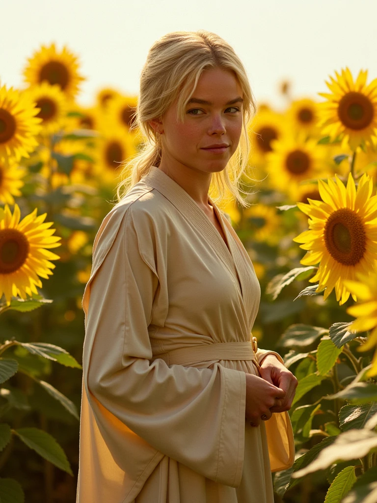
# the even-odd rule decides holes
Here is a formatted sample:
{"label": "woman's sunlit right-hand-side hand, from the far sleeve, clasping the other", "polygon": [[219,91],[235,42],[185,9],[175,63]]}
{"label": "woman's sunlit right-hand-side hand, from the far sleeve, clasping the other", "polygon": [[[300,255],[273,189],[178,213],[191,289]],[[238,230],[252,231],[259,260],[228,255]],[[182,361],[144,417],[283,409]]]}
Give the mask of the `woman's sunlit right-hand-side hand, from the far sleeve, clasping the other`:
{"label": "woman's sunlit right-hand-side hand, from the far sleeve, clasping the other", "polygon": [[285,392],[281,405],[274,405],[270,408],[271,412],[284,412],[292,406],[296,394],[296,388],[299,383],[297,378],[285,367],[275,355],[265,356],[259,367],[260,377],[267,382],[277,386]]}

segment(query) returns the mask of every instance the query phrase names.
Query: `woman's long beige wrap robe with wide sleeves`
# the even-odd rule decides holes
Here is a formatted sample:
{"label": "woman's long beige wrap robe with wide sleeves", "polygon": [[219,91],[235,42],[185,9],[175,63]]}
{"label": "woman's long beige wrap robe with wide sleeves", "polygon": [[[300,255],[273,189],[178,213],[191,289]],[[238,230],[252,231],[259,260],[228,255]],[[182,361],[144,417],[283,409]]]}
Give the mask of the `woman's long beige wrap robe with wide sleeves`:
{"label": "woman's long beige wrap robe with wide sleeves", "polygon": [[[96,235],[82,301],[77,503],[273,503],[271,472],[293,465],[288,411],[258,427],[245,420],[245,373],[259,375],[269,353],[284,362],[250,350],[260,286],[209,202],[229,248],[152,166]],[[217,358],[206,356],[213,348]]]}

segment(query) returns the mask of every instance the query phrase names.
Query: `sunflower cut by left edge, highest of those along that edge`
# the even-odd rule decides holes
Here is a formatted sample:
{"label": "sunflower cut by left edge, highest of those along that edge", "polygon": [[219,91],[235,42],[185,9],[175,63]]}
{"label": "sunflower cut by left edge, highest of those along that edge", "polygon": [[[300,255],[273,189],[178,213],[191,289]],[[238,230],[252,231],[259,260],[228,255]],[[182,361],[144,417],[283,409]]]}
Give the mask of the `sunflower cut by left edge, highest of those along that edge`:
{"label": "sunflower cut by left edge, highest of those along that edge", "polygon": [[0,162],[9,165],[14,159],[29,157],[38,145],[35,136],[40,132],[42,119],[35,103],[19,91],[0,88]]}

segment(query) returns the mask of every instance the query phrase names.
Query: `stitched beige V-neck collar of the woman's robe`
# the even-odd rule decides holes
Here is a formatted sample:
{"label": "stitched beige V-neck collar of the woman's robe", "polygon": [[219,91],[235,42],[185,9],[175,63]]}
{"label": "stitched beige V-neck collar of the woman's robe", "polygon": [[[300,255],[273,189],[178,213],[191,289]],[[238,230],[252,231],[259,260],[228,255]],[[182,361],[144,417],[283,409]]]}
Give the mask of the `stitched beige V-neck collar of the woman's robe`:
{"label": "stitched beige V-neck collar of the woman's robe", "polygon": [[244,268],[242,267],[240,252],[232,233],[228,229],[230,223],[226,222],[226,218],[222,216],[222,212],[212,199],[208,196],[208,201],[216,212],[228,246],[225,244],[215,225],[211,222],[202,208],[199,207],[196,201],[157,166],[151,166],[149,173],[147,173],[141,181],[160,192],[183,215],[185,215],[187,219],[195,224],[203,236],[209,241],[220,260],[230,271],[240,290],[240,295],[243,301],[245,301],[245,278],[244,274],[242,274]]}

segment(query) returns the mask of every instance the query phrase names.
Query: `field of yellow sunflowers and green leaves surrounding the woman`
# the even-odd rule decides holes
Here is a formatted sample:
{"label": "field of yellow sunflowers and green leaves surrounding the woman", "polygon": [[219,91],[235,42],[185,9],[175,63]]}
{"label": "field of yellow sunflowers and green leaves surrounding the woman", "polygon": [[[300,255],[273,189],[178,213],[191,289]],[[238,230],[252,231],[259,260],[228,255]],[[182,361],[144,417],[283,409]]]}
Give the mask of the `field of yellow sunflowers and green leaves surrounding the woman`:
{"label": "field of yellow sunflowers and green leaves surrounding the woman", "polygon": [[[145,139],[137,96],[77,103],[86,77],[67,47],[41,46],[23,76],[22,89],[0,82],[0,501],[69,503],[93,241]],[[258,104],[252,204],[219,206],[260,282],[253,337],[299,381],[295,463],[272,474],[275,501],[375,503],[377,78],[346,67],[325,83],[322,101],[285,81],[284,111]]]}

